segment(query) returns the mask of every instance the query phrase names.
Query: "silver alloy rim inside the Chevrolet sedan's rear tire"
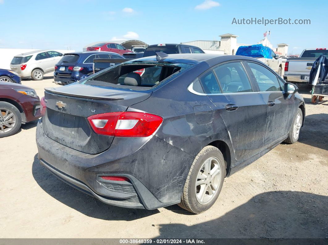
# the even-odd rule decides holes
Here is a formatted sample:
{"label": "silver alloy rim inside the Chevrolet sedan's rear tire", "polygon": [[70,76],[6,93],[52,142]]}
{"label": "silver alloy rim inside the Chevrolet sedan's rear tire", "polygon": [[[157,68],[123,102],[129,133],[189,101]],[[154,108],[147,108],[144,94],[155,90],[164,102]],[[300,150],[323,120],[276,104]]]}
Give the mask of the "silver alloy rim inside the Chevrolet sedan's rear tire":
{"label": "silver alloy rim inside the Chevrolet sedan's rear tire", "polygon": [[221,165],[215,157],[210,157],[204,161],[200,167],[195,184],[197,201],[204,205],[209,203],[221,182]]}

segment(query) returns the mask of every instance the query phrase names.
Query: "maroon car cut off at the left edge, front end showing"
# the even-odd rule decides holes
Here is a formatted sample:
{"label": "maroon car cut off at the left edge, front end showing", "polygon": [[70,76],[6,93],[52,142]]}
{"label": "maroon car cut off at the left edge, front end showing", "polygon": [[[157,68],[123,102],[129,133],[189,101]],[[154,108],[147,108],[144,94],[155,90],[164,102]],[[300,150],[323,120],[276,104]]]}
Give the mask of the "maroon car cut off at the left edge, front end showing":
{"label": "maroon car cut off at the left edge, front end showing", "polygon": [[20,126],[41,116],[40,98],[34,89],[0,82],[0,138],[15,134]]}

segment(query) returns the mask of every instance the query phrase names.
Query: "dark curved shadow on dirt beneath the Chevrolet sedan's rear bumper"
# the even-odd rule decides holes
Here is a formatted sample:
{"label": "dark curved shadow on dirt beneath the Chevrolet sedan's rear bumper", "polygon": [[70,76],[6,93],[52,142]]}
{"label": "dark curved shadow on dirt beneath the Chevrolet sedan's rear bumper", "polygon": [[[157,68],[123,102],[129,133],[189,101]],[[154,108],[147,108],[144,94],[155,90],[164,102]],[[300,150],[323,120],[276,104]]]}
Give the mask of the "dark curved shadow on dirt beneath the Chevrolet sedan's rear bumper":
{"label": "dark curved shadow on dirt beneath the Chevrolet sedan's rear bumper", "polygon": [[157,209],[121,208],[98,201],[96,198],[65,184],[51,174],[40,165],[37,154],[34,156],[32,174],[37,184],[53,198],[92,218],[130,221],[159,213]]}

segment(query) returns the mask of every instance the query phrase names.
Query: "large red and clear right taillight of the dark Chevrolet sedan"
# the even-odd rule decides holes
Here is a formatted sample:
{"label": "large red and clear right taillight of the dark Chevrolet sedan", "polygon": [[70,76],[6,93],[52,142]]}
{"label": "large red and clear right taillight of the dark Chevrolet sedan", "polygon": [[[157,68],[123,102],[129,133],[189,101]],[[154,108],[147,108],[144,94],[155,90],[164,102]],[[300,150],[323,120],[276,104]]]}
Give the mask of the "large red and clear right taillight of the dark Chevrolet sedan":
{"label": "large red and clear right taillight of the dark Chevrolet sedan", "polygon": [[147,137],[161,125],[163,118],[143,112],[111,112],[88,117],[98,134],[116,137]]}

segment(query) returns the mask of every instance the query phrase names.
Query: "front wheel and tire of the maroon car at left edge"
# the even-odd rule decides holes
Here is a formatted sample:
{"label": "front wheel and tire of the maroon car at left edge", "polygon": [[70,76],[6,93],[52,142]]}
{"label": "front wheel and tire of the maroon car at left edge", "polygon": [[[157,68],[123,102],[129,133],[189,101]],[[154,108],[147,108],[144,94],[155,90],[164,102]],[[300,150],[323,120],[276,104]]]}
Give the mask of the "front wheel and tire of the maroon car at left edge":
{"label": "front wheel and tire of the maroon car at left edge", "polygon": [[[8,102],[0,101],[0,113],[0,138],[15,134],[22,125],[22,116],[17,107]],[[6,114],[7,116],[11,115],[11,113],[12,116],[6,120],[4,116]],[[6,125],[13,125],[13,127],[10,129],[10,127],[6,127]]]}

